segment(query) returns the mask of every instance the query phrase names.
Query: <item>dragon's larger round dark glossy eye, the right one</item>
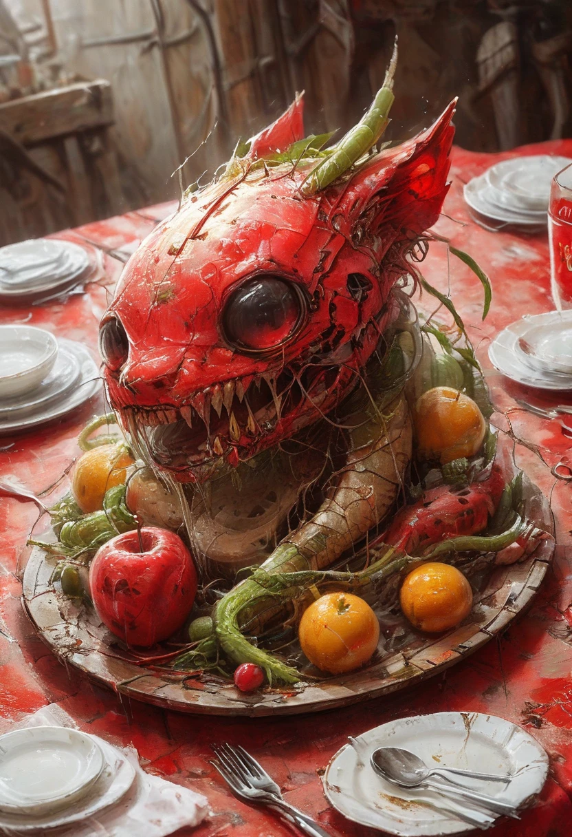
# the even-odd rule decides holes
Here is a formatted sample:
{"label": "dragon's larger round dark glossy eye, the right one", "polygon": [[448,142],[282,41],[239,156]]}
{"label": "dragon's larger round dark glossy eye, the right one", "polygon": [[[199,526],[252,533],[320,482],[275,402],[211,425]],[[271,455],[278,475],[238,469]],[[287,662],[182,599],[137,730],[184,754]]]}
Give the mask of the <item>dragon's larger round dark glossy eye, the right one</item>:
{"label": "dragon's larger round dark glossy eye, the right one", "polygon": [[251,352],[280,346],[304,313],[296,286],[279,276],[257,276],[233,291],[222,316],[227,340]]}

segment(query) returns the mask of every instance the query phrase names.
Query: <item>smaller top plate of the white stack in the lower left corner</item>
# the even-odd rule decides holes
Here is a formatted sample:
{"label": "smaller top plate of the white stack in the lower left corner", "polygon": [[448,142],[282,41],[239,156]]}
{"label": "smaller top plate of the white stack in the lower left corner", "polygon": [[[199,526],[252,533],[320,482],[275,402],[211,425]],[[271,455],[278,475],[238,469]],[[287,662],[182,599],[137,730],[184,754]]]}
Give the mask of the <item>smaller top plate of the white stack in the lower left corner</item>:
{"label": "smaller top plate of the white stack in the lower left corner", "polygon": [[100,745],[67,727],[31,727],[0,737],[0,811],[48,814],[71,804],[105,766]]}

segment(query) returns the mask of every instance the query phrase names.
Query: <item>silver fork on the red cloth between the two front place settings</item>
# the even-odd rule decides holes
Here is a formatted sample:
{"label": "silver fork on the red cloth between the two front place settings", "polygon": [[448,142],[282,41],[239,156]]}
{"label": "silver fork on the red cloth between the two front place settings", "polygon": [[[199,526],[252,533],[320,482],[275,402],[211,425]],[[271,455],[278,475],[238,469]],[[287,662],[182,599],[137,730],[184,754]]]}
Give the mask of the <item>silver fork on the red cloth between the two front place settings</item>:
{"label": "silver fork on the red cloth between the two front place settings", "polygon": [[231,747],[230,744],[222,744],[220,747],[212,747],[218,759],[211,762],[214,768],[221,774],[222,778],[230,785],[232,791],[238,797],[248,802],[258,802],[276,808],[289,819],[294,821],[300,831],[309,834],[309,837],[331,837],[329,832],[315,822],[314,819],[304,814],[294,805],[289,804],[282,798],[282,793],[273,778],[268,776],[265,770],[258,764],[243,747]]}

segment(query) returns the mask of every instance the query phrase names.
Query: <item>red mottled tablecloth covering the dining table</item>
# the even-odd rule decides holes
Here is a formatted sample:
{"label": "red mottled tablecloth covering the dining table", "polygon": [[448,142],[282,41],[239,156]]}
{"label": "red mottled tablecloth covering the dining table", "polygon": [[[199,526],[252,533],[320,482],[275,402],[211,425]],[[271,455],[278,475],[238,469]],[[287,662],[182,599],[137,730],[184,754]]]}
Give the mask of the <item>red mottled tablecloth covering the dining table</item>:
{"label": "red mottled tablecloth covering the dining table", "polygon": [[[146,770],[205,793],[212,818],[195,831],[197,837],[282,837],[291,830],[273,816],[238,802],[228,793],[207,762],[211,742],[240,743],[260,758],[290,802],[315,815],[335,837],[375,832],[346,821],[330,809],[322,793],[320,773],[348,735],[399,716],[464,710],[486,711],[523,725],[546,748],[550,775],[539,802],[521,821],[502,821],[494,837],[564,837],[572,824],[572,485],[555,480],[550,467],[559,460],[572,465],[569,439],[559,420],[526,412],[515,398],[537,396],[510,383],[490,368],[488,343],[500,329],[526,313],[552,309],[549,294],[549,251],[546,234],[524,236],[489,233],[472,223],[462,199],[462,184],[493,162],[516,154],[548,152],[572,157],[572,141],[527,146],[499,155],[476,154],[455,148],[452,188],[437,232],[472,254],[493,281],[493,305],[481,321],[483,293],[478,280],[457,260],[447,269],[447,251],[432,244],[423,265],[426,277],[442,290],[451,285],[452,298],[467,322],[478,357],[488,370],[488,383],[499,410],[496,420],[512,428],[517,460],[549,494],[556,520],[558,547],[553,569],[523,618],[498,639],[442,676],[394,696],[285,720],[234,721],[161,711],[134,701],[125,702],[80,676],[65,670],[34,634],[20,605],[16,577],[18,557],[37,510],[30,503],[0,499],[0,732],[27,712],[56,701],[90,732],[110,742],[137,747]],[[171,204],[127,213],[105,222],[89,223],[61,237],[89,242],[100,249],[105,276],[84,295],[64,302],[0,311],[3,322],[30,322],[59,336],[83,341],[95,350],[98,323],[120,275],[122,263],[171,211]],[[427,300],[431,304],[432,300]],[[544,403],[565,400],[546,396]],[[40,492],[54,483],[77,455],[75,439],[85,422],[102,412],[93,401],[69,419],[37,432],[0,439],[0,475],[11,475]],[[61,492],[61,485],[59,487]],[[182,835],[185,831],[179,832]],[[144,837],[144,835],[141,835]]]}

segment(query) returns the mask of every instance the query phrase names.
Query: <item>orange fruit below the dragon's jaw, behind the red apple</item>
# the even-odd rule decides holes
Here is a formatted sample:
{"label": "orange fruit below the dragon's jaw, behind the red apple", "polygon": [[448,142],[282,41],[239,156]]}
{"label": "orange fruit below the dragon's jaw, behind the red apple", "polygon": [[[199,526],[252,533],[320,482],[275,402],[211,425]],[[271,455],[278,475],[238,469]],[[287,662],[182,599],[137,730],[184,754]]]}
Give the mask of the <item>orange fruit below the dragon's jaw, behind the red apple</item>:
{"label": "orange fruit below the dragon's jaw, behind the red apple", "polygon": [[108,488],[121,485],[133,460],[123,444],[102,444],[79,457],[72,478],[72,494],[81,511],[98,511]]}

